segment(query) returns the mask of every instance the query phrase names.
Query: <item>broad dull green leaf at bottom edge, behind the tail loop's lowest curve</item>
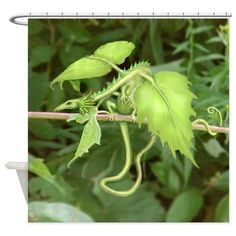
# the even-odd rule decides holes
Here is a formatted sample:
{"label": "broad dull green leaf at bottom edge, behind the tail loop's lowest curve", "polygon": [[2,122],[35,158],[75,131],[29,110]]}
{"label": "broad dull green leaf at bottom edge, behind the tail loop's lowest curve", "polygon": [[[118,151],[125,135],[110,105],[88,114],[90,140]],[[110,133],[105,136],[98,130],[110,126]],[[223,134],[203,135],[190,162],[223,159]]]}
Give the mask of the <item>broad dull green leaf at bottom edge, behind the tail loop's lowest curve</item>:
{"label": "broad dull green leaf at bottom edge, behind the tail loop's lowest curve", "polygon": [[[128,189],[133,181],[123,179],[111,184],[115,189]],[[141,186],[134,194],[119,198],[96,189],[96,194],[104,205],[106,221],[114,222],[157,222],[164,220],[164,208],[154,197]]]}

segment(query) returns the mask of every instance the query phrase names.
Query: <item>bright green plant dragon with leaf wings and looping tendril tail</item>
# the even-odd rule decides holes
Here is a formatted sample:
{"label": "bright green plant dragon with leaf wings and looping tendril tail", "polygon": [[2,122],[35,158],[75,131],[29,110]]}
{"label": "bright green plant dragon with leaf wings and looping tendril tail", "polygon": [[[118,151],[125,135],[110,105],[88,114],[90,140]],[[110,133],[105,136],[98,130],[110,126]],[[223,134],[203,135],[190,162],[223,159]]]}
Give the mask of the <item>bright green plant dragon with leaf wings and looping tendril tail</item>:
{"label": "bright green plant dragon with leaf wings and looping tendril tail", "polygon": [[[142,180],[141,158],[152,148],[157,138],[160,138],[162,144],[168,144],[175,158],[176,151],[179,150],[198,167],[191,150],[193,133],[190,122],[190,117],[195,115],[191,102],[196,96],[189,90],[188,79],[171,71],[153,74],[148,62],[135,63],[128,69],[119,68],[118,65],[124,63],[134,48],[134,44],[127,41],[102,45],[93,55],[71,64],[51,83],[51,86],[59,83],[62,88],[65,81],[70,81],[73,87],[76,83],[76,90],[79,90],[81,80],[103,76],[111,69],[118,73],[118,77],[102,91],[70,99],[59,105],[55,111],[77,109],[79,113],[69,121],[74,120],[79,124],[87,122],[75,155],[68,166],[88,152],[92,145],[100,144],[101,129],[96,120],[97,113],[130,114],[134,121],[137,116],[139,126],[147,123],[150,141],[133,157],[127,123],[120,122],[126,149],[125,165],[119,174],[103,178],[100,186],[104,191],[121,197],[131,195],[139,187]],[[108,111],[99,111],[98,108],[104,101],[107,103]],[[214,113],[215,110],[209,111]],[[220,114],[218,110],[217,112]],[[198,119],[195,123],[202,123],[208,127],[203,119]],[[208,131],[214,135],[209,128]],[[107,183],[122,179],[128,173],[132,162],[136,166],[137,179],[130,189],[117,191],[107,186]]]}

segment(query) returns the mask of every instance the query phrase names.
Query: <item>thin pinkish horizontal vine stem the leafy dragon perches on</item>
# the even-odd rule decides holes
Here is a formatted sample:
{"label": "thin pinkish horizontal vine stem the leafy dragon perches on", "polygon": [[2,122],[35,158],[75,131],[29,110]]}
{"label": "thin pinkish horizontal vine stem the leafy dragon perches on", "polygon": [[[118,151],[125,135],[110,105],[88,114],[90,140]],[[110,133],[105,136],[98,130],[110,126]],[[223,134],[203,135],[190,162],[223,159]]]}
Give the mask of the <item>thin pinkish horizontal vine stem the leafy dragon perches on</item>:
{"label": "thin pinkish horizontal vine stem the leafy dragon perches on", "polygon": [[[67,120],[71,116],[76,115],[76,113],[63,113],[63,112],[28,112],[29,119],[48,119],[48,120]],[[97,120],[100,121],[126,121],[126,122],[135,122],[135,118],[130,115],[122,114],[97,114]],[[194,130],[207,131],[206,127],[201,124],[192,124]],[[219,127],[214,125],[209,125],[209,128],[213,132],[217,133],[229,133],[228,127]]]}

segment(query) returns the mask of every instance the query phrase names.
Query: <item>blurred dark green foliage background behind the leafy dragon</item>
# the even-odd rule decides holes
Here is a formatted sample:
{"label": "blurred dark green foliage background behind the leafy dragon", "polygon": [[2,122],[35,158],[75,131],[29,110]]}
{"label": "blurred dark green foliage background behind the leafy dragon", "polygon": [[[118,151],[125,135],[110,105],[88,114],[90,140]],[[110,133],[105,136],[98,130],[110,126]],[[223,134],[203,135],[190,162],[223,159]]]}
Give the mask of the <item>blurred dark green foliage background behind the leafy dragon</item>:
{"label": "blurred dark green foliage background behind the leafy dragon", "polygon": [[[131,41],[137,60],[148,60],[154,71],[173,70],[188,76],[198,99],[193,107],[198,118],[216,124],[208,106],[229,123],[228,22],[226,20],[30,20],[29,111],[53,111],[60,103],[78,96],[69,83],[64,90],[49,88],[69,64],[116,40]],[[84,80],[82,92],[98,91],[113,74]],[[124,162],[118,125],[100,122],[101,146],[95,146],[71,168],[67,163],[80,139],[82,126],[73,122],[29,120],[29,220],[30,221],[228,221],[228,135],[216,138],[194,131],[197,169],[167,147],[157,143],[143,161],[144,179],[132,196],[111,196],[97,186],[104,176],[116,174]],[[148,142],[143,127],[130,124],[134,152]],[[175,134],[173,134],[175,135]],[[115,188],[127,189],[135,169]]]}

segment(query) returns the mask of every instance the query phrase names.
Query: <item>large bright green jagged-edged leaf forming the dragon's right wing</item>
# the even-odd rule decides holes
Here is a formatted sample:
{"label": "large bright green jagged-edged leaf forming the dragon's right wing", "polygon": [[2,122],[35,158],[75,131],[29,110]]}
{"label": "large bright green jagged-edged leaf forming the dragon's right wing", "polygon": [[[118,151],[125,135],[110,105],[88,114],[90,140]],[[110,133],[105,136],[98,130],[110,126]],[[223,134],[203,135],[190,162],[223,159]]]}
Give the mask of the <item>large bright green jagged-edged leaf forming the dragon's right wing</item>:
{"label": "large bright green jagged-edged leaf forming the dragon's right wing", "polygon": [[174,157],[179,150],[197,166],[191,152],[190,121],[195,115],[191,102],[196,96],[189,90],[189,81],[184,75],[170,71],[155,74],[155,81],[162,94],[148,81],[135,93],[137,121],[139,125],[147,122],[149,131],[159,135],[162,145],[168,144]]}

